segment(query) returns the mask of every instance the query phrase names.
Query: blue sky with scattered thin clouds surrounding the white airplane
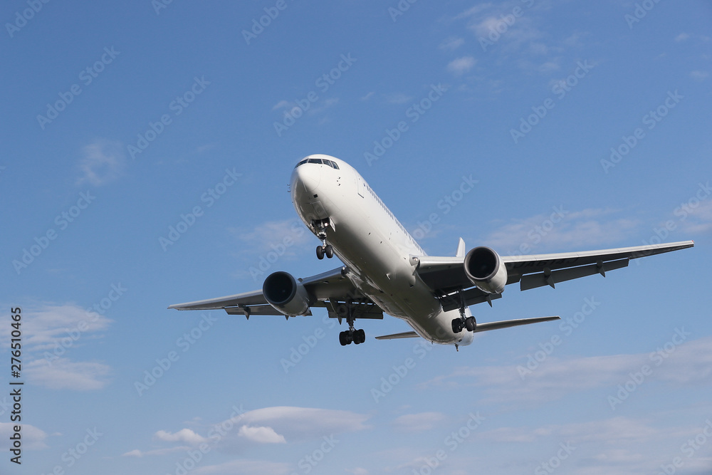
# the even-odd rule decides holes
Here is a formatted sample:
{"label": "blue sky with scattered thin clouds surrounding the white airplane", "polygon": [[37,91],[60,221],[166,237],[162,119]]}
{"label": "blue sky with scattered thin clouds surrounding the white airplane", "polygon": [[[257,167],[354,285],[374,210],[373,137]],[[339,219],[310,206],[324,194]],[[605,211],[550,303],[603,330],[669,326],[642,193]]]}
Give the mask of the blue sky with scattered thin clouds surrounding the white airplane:
{"label": "blue sky with scattered thin clouds surrounding the white airplane", "polygon": [[[2,7],[3,473],[709,473],[708,3],[158,1]],[[507,288],[478,320],[565,321],[459,353],[167,310],[335,266],[286,193],[311,153],[431,255],[696,246]]]}

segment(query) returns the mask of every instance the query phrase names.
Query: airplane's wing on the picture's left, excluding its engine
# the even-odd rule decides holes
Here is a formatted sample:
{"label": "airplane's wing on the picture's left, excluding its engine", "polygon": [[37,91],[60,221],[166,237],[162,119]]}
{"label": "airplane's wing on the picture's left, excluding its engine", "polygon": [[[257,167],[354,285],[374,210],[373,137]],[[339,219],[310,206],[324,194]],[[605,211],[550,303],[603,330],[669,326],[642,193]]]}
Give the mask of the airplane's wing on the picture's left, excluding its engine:
{"label": "airplane's wing on the picture's left, excluding its engine", "polygon": [[[342,304],[349,301],[357,318],[383,318],[383,312],[369,298],[363,296],[344,276],[342,267],[315,276],[297,279],[308,296],[309,309],[300,315],[311,315],[311,307],[326,307],[331,318],[345,317]],[[224,309],[230,315],[286,315],[271,306],[262,290],[237,293],[232,296],[209,298],[202,301],[174,303],[176,310]]]}

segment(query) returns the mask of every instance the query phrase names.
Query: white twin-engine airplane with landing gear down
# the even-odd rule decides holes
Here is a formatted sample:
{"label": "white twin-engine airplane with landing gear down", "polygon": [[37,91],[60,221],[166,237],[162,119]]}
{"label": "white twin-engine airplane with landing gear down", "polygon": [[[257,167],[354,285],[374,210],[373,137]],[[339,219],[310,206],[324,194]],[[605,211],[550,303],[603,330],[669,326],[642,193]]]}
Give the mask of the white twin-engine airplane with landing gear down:
{"label": "white twin-engine airplane with landing gear down", "polygon": [[[224,309],[230,315],[311,315],[325,307],[349,329],[341,345],[364,343],[357,318],[382,319],[387,313],[414,331],[376,337],[425,338],[431,343],[472,343],[477,332],[557,320],[558,316],[477,323],[469,306],[501,298],[507,284],[521,290],[552,286],[574,278],[626,267],[630,259],[677,251],[693,241],[622,249],[533,256],[500,256],[485,246],[455,256],[428,256],[361,175],[343,160],[309,155],[292,172],[290,194],[297,214],[322,242],[318,259],[337,256],[344,265],[307,278],[278,271],[261,290],[204,301],[177,303],[177,310]],[[466,330],[466,331],[463,331]]]}

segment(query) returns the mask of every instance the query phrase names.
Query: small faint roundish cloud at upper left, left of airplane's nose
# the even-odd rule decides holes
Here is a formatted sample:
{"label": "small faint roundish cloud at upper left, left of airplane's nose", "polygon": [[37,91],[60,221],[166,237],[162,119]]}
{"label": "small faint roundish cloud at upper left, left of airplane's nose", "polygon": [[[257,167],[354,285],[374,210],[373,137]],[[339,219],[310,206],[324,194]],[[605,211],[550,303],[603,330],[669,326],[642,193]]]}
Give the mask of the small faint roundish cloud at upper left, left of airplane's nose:
{"label": "small faint roundish cloud at upper left, left of airplane's nose", "polygon": [[88,182],[95,187],[120,176],[126,162],[124,145],[111,140],[97,140],[83,148],[84,157],[79,161],[82,176],[78,184]]}

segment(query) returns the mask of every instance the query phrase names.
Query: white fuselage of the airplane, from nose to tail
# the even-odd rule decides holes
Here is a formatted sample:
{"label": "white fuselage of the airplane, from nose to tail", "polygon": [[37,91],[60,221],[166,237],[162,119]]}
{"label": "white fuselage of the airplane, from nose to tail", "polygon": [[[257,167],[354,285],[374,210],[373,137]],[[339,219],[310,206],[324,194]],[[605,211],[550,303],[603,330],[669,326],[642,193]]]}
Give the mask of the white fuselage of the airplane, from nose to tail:
{"label": "white fuselage of the airplane, from nose to tail", "polygon": [[314,234],[315,223],[328,222],[319,230],[347,266],[347,278],[384,313],[402,318],[433,343],[472,342],[473,333],[452,331],[459,310],[444,311],[417,275],[411,257],[426,255],[423,249],[353,167],[328,155],[310,155],[294,168],[290,192],[297,214]]}

